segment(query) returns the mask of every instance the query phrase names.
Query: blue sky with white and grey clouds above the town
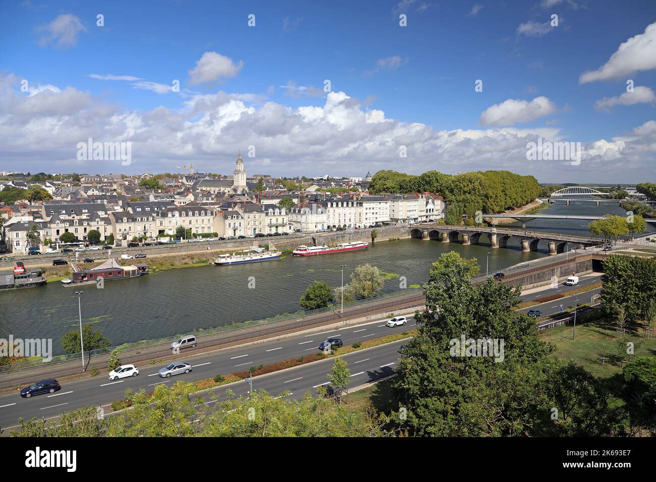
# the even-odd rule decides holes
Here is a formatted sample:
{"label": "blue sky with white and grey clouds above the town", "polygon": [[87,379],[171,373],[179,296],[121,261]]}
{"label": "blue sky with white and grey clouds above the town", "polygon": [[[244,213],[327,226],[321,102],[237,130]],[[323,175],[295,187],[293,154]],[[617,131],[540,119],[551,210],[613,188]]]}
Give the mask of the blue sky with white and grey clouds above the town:
{"label": "blue sky with white and grey clouds above the town", "polygon": [[[0,171],[163,172],[194,161],[225,174],[236,150],[255,146],[247,170],[274,175],[508,169],[543,182],[656,180],[653,7],[5,2]],[[581,83],[586,71],[597,73]],[[180,92],[167,89],[174,79]],[[627,79],[640,89],[620,97]],[[88,136],[132,142],[131,164],[77,159]],[[583,162],[528,161],[537,136],[581,142]]]}

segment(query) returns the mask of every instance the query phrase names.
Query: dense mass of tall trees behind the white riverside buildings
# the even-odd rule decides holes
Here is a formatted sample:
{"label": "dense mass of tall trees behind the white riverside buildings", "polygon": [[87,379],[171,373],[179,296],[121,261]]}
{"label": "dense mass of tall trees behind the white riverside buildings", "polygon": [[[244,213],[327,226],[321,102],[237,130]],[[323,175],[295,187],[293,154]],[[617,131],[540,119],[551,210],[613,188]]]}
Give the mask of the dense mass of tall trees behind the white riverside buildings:
{"label": "dense mass of tall trees behind the white riverside buildings", "polygon": [[369,183],[371,193],[429,192],[440,194],[448,204],[459,204],[463,212],[497,213],[527,205],[542,193],[533,176],[510,171],[476,171],[443,174],[427,171],[419,176],[396,171],[379,171]]}

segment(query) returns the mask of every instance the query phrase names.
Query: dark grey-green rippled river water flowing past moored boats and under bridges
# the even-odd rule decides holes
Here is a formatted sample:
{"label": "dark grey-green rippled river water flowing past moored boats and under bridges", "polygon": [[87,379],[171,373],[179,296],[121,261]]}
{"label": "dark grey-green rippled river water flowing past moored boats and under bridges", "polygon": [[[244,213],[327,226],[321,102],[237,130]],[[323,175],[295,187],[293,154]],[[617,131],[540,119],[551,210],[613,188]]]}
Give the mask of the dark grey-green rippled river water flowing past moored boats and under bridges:
{"label": "dark grey-green rippled river water flowing past moored boats and under bridges", "polygon": [[[625,214],[616,205],[596,207],[593,203],[551,205],[539,214],[607,212]],[[587,235],[586,224],[576,220],[534,220],[527,222],[527,230]],[[345,283],[356,266],[369,263],[405,277],[410,287],[428,279],[430,264],[443,252],[457,251],[466,258],[477,258],[483,273],[487,252],[491,253],[490,273],[546,256],[547,252],[544,242],[538,252],[522,252],[516,239],[511,239],[506,249],[489,249],[487,237],[482,237],[481,243],[462,246],[419,239],[384,241],[365,251],[308,258],[285,255],[271,262],[173,269],[138,279],[109,281],[104,289],[86,285],[81,287],[82,321],[95,323],[116,345],[300,310],[298,300],[315,280],[331,287],[340,285],[342,264],[346,265]],[[384,292],[398,291],[400,279],[389,278]],[[255,287],[249,288],[253,281]],[[0,338],[8,338],[9,334],[14,338],[52,338],[54,354],[63,353],[62,334],[78,326],[74,290],[54,282],[42,288],[0,292]]]}

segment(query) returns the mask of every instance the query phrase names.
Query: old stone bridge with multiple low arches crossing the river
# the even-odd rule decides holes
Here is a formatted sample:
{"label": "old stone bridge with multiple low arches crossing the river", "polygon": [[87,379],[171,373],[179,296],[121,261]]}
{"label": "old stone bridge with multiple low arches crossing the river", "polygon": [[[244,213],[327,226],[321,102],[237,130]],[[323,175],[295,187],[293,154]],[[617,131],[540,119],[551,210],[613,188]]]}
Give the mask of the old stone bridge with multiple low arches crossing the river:
{"label": "old stone bridge with multiple low arches crossing the river", "polygon": [[598,246],[604,243],[601,239],[581,237],[560,233],[544,233],[540,231],[523,231],[512,228],[485,228],[475,226],[447,226],[445,224],[413,224],[410,227],[411,237],[418,239],[434,239],[442,243],[453,243],[462,239],[463,245],[478,244],[481,236],[489,239],[490,247],[505,248],[511,237],[517,237],[522,243],[522,251],[537,251],[540,241],[546,241],[549,255],[565,252],[568,243],[575,249]]}

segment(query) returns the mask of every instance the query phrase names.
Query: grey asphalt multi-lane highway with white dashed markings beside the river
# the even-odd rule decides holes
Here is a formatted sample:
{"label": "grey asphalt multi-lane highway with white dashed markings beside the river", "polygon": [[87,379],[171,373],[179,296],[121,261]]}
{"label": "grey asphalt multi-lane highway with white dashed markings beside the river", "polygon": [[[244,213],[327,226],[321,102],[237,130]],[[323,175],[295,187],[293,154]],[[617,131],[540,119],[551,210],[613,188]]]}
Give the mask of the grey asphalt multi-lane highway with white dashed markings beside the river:
{"label": "grey asphalt multi-lane highway with white dashed markings beside the river", "polygon": [[[561,284],[553,289],[527,294],[523,296],[523,300],[535,300],[557,292],[578,289],[599,281],[600,274],[595,273],[594,275],[581,277],[579,285],[575,287],[565,287]],[[600,289],[596,289],[579,294],[579,302],[589,302],[590,296],[599,291]],[[573,298],[562,298],[562,300],[555,300],[531,308],[541,310],[544,315],[547,315],[557,313],[560,303],[567,308],[567,306],[573,304]],[[531,308],[524,308],[522,311]],[[226,375],[237,371],[245,371],[249,367],[260,364],[268,365],[283,359],[298,358],[302,355],[316,353],[319,344],[326,338],[341,338],[344,345],[348,345],[369,338],[380,338],[380,336],[386,334],[404,332],[415,328],[413,317],[408,317],[407,325],[401,327],[386,327],[385,321],[373,321],[331,331],[298,334],[281,340],[255,342],[192,357],[181,357],[178,361],[187,361],[192,364],[194,369],[188,374],[172,376],[171,378],[157,376],[159,369],[169,362],[155,363],[154,365],[142,363],[137,365],[140,371],[138,376],[113,382],[108,379],[106,372],[102,372],[95,377],[70,381],[62,380],[62,390],[59,392],[35,395],[29,399],[20,397],[17,391],[12,391],[0,396],[0,427],[5,430],[3,435],[7,435],[7,429],[16,427],[17,420],[20,417],[26,419],[32,417],[51,419],[56,418],[62,412],[89,405],[100,405],[106,408],[113,401],[123,399],[125,391],[128,389],[133,390],[133,392],[140,389],[151,392],[157,384],[170,386],[178,380],[192,382],[212,378],[216,374]],[[344,355],[344,359],[348,362],[352,373],[350,386],[358,386],[392,374],[394,364],[398,360],[400,345],[401,342],[394,342]],[[316,393],[316,386],[327,382],[326,374],[330,372],[332,363],[331,359],[327,359],[318,363],[301,365],[294,369],[256,376],[253,378],[253,388],[264,389],[274,396],[285,391],[293,393],[291,395],[293,397],[302,397],[308,391]],[[231,385],[230,388],[237,395],[245,394],[249,389],[246,383]],[[221,395],[223,390],[224,388],[217,388],[216,393]],[[106,408],[106,412],[111,412],[111,409]]]}

